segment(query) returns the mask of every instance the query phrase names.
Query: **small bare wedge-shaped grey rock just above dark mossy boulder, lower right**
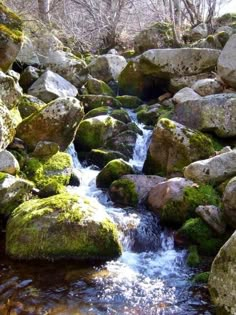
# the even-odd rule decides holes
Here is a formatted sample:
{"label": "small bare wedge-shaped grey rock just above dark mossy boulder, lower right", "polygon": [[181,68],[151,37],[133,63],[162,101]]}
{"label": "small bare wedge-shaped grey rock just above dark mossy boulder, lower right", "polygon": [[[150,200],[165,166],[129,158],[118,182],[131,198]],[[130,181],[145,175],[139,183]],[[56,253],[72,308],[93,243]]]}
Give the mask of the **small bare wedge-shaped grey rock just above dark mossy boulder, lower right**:
{"label": "small bare wedge-shaped grey rock just above dark mossy boulder, lower right", "polygon": [[224,234],[226,224],[221,209],[206,205],[198,206],[195,211],[216,233]]}

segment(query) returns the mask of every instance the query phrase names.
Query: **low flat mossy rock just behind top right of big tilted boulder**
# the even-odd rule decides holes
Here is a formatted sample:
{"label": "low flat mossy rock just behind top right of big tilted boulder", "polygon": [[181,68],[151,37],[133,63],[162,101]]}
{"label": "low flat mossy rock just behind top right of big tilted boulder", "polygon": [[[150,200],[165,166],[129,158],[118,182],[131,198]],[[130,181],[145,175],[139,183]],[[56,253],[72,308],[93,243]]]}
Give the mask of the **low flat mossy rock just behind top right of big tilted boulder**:
{"label": "low flat mossy rock just behind top right of big tilted boulder", "polygon": [[84,106],[85,112],[89,112],[92,109],[98,107],[109,106],[112,108],[121,108],[122,104],[112,96],[107,95],[80,95],[78,99]]}

